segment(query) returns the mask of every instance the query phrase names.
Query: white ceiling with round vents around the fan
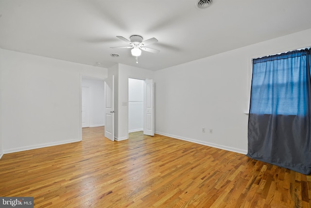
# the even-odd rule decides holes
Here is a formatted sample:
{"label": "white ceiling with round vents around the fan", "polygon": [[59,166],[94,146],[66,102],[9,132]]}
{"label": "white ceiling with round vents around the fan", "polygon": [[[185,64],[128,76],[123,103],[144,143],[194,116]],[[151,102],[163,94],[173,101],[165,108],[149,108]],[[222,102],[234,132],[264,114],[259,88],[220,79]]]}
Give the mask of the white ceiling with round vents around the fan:
{"label": "white ceiling with round vents around the fan", "polygon": [[[159,70],[311,28],[311,0],[0,0],[0,48]],[[138,57],[116,36],[157,38]],[[117,53],[120,57],[111,57]]]}

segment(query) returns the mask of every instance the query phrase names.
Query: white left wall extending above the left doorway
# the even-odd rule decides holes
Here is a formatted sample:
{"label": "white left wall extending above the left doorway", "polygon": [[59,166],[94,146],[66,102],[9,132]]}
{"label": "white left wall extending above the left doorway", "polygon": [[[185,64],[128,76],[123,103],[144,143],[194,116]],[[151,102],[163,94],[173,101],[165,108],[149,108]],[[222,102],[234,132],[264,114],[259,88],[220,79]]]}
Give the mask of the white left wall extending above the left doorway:
{"label": "white left wall extending above the left doorway", "polygon": [[81,75],[107,69],[2,50],[4,153],[79,141]]}

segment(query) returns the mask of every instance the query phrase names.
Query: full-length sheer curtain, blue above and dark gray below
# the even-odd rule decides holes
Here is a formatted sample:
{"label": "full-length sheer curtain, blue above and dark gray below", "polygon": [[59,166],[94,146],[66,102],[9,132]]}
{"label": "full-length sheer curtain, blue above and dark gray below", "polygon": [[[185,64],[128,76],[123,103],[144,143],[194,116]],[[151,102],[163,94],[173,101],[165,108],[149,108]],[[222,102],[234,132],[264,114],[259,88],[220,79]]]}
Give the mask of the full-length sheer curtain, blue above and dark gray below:
{"label": "full-length sheer curtain, blue above and dark gray below", "polygon": [[311,173],[310,49],[253,60],[247,156]]}

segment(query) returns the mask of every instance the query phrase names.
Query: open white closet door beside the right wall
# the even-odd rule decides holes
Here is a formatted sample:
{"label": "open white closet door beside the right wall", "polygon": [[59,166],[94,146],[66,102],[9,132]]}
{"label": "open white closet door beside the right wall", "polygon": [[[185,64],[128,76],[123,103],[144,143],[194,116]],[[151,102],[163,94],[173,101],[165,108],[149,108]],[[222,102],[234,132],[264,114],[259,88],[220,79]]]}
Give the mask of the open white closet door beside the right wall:
{"label": "open white closet door beside the right wall", "polygon": [[144,134],[154,136],[154,82],[144,81]]}

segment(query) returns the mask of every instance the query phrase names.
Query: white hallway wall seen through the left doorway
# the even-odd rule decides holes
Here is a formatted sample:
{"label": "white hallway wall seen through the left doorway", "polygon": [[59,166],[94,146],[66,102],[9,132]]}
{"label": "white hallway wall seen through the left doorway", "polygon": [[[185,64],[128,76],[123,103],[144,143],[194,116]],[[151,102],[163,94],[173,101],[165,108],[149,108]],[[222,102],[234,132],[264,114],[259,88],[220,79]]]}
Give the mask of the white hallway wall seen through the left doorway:
{"label": "white hallway wall seen through the left doorway", "polygon": [[104,126],[104,80],[83,76],[82,87],[89,87],[89,127]]}

